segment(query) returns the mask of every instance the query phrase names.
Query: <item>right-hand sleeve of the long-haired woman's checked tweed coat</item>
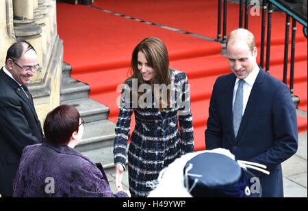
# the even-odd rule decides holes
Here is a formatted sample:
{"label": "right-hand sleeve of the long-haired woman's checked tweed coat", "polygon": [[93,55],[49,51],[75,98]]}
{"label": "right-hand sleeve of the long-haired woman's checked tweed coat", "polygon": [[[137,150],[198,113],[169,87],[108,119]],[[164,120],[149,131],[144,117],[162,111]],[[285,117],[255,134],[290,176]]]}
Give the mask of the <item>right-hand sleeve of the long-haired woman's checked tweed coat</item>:
{"label": "right-hand sleeve of the long-haired woman's checked tweed coat", "polygon": [[181,83],[181,103],[178,111],[182,154],[194,152],[194,128],[190,111],[190,85],[185,75]]}

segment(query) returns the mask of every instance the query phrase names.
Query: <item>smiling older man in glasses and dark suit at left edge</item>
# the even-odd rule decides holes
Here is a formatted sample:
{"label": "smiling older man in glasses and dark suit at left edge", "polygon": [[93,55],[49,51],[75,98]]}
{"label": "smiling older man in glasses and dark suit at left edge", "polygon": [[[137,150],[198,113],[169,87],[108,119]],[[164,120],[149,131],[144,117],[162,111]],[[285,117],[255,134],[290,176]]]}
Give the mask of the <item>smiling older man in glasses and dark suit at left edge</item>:
{"label": "smiling older man in glasses and dark suit at left edge", "polygon": [[12,196],[23,148],[42,142],[40,120],[27,89],[38,70],[33,46],[18,40],[8,49],[0,70],[0,194]]}

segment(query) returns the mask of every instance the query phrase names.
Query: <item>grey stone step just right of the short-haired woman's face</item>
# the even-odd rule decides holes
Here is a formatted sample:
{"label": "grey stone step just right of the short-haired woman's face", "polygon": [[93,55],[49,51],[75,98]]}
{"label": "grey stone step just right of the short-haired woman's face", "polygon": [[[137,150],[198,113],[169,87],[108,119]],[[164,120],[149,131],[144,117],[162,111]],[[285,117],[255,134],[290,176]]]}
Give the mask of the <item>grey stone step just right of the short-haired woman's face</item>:
{"label": "grey stone step just right of the short-haired woman's face", "polygon": [[76,150],[86,152],[113,146],[114,128],[116,124],[108,119],[84,124],[84,135]]}

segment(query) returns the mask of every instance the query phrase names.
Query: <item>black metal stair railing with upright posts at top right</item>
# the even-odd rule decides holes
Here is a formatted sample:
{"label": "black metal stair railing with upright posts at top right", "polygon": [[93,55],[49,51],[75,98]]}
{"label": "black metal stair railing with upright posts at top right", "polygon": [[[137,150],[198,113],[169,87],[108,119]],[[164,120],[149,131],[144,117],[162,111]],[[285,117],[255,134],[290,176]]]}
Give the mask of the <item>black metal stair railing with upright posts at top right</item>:
{"label": "black metal stair railing with upright posts at top right", "polygon": [[[222,0],[218,0],[218,42],[225,43],[227,36],[227,1],[223,1],[223,29],[222,36],[220,33],[221,27],[221,10],[222,10]],[[243,4],[245,5],[245,15],[244,15],[244,28],[248,29],[248,1],[240,0],[240,14],[239,14],[239,28],[243,27]],[[288,64],[288,50],[289,50],[289,31],[290,31],[290,18],[292,18],[292,44],[291,44],[291,65],[290,65],[290,93],[296,107],[299,104],[299,98],[294,95],[294,62],[295,62],[295,46],[296,46],[296,22],[303,25],[303,33],[307,38],[307,17],[301,15],[300,13],[292,10],[286,3],[281,0],[263,0],[262,9],[262,19],[261,19],[261,52],[260,52],[260,66],[264,68],[264,57],[265,57],[265,42],[266,42],[266,67],[264,68],[266,72],[270,73],[270,42],[272,33],[272,7],[273,5],[279,8],[282,12],[286,14],[285,23],[285,48],[284,48],[284,61],[283,61],[283,83],[287,84],[287,64]],[[266,24],[266,11],[268,11],[268,23]],[[266,30],[267,27],[267,30]],[[267,31],[267,34],[266,34]]]}

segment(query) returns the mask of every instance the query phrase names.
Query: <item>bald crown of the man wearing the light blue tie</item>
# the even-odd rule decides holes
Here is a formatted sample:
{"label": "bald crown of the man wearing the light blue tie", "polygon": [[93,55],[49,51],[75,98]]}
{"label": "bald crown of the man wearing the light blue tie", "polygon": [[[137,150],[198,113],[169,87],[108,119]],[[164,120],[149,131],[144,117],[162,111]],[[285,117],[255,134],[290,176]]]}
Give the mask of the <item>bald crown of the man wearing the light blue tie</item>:
{"label": "bald crown of the man wearing the light blue tie", "polygon": [[231,31],[227,38],[226,48],[228,48],[228,44],[235,44],[238,42],[245,42],[251,53],[253,53],[253,49],[255,48],[255,36],[253,36],[251,31],[247,29],[235,29]]}

